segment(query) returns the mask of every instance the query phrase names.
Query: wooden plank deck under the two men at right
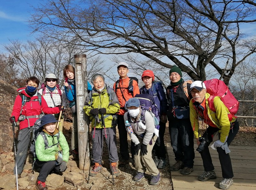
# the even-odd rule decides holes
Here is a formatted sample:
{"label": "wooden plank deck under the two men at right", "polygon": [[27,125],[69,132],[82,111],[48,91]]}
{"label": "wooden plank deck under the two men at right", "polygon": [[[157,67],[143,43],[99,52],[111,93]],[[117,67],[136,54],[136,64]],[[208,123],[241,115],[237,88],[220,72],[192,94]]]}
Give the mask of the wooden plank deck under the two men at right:
{"label": "wooden plank deck under the two men at right", "polygon": [[[196,151],[194,171],[189,175],[182,175],[180,171],[171,171],[173,188],[188,190],[188,189],[204,189],[216,190],[219,189],[219,183],[222,179],[220,161],[216,150],[210,148],[212,163],[215,167],[217,179],[210,179],[203,182],[198,181],[197,176],[204,172],[203,161],[200,154]],[[230,157],[234,172],[234,184],[230,190],[255,190],[256,189],[256,147],[241,147],[230,146]],[[167,152],[170,165],[175,163],[175,157],[170,143],[167,143]]]}

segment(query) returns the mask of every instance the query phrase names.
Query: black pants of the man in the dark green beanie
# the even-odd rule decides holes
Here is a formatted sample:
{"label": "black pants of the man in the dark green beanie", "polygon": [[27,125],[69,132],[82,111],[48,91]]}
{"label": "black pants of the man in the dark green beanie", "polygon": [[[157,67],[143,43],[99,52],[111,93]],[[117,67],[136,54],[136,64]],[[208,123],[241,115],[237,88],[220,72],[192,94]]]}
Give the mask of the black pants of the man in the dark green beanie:
{"label": "black pants of the man in the dark green beanie", "polygon": [[175,119],[169,121],[171,145],[176,161],[182,161],[185,167],[193,168],[194,132],[189,119]]}

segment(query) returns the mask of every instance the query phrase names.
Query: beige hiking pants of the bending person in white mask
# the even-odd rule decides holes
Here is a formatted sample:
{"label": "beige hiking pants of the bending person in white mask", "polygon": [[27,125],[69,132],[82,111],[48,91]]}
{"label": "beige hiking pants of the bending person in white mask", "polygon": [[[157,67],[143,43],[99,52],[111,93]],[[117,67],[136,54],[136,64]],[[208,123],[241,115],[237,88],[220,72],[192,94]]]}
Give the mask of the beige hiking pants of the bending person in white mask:
{"label": "beige hiking pants of the bending person in white mask", "polygon": [[[142,145],[143,139],[138,138],[140,141],[140,144]],[[147,145],[147,150],[148,153],[144,156],[140,155],[140,150],[138,155],[134,155],[134,164],[135,164],[135,169],[139,172],[146,172],[146,170],[149,171],[151,176],[157,176],[159,174],[158,169],[156,168],[156,164],[152,158],[152,149],[155,145],[157,136],[152,137],[152,145],[148,144]]]}

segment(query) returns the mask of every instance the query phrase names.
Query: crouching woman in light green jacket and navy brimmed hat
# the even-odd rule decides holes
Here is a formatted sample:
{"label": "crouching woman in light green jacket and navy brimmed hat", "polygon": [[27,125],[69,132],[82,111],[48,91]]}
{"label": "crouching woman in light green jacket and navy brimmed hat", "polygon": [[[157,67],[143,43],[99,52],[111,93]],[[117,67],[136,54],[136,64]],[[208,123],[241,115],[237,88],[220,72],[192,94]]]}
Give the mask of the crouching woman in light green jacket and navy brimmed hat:
{"label": "crouching woman in light green jacket and navy brimmed hat", "polygon": [[[58,120],[52,114],[41,118],[43,131],[39,133],[36,139],[36,161],[35,168],[41,168],[36,180],[38,190],[48,189],[45,185],[47,176],[52,172],[64,172],[67,169],[69,157],[68,142],[62,132],[56,128]],[[45,148],[44,138],[47,139],[48,147]],[[61,152],[62,150],[62,152]]]}

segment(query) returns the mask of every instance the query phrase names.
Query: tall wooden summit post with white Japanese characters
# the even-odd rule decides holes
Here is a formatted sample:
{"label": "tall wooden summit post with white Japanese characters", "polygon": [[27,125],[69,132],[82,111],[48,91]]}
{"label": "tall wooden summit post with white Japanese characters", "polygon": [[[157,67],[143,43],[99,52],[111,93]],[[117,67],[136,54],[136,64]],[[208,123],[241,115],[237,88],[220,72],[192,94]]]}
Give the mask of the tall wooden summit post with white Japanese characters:
{"label": "tall wooden summit post with white Japanese characters", "polygon": [[79,169],[87,172],[90,167],[89,117],[84,113],[84,101],[87,97],[86,55],[74,55],[76,76],[76,115],[79,151]]}

